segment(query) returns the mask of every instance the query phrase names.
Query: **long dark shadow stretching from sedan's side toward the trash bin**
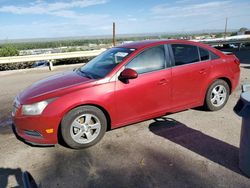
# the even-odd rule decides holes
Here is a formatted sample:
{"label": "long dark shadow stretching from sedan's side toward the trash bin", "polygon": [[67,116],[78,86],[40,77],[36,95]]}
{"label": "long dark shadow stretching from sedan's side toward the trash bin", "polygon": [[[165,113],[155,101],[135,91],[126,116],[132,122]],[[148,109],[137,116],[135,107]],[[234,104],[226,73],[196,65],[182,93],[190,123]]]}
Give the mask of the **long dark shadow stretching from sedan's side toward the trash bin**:
{"label": "long dark shadow stretching from sedan's side toward the trash bin", "polygon": [[239,148],[192,129],[172,118],[161,117],[149,125],[154,134],[185,147],[238,174]]}

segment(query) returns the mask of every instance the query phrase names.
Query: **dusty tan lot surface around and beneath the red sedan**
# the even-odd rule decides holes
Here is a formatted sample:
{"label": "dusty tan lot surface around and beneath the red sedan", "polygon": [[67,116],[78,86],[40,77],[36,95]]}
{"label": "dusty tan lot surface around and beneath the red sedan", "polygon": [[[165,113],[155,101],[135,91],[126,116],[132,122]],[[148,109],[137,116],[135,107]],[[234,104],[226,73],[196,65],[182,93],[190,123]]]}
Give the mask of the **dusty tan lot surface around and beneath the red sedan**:
{"label": "dusty tan lot surface around and beneath the red sedan", "polygon": [[[250,83],[242,68],[241,83]],[[219,112],[196,109],[106,133],[86,150],[31,147],[12,134],[13,97],[46,70],[1,74],[0,187],[22,187],[29,171],[42,187],[250,187],[238,168],[241,119],[233,112],[240,88]]]}

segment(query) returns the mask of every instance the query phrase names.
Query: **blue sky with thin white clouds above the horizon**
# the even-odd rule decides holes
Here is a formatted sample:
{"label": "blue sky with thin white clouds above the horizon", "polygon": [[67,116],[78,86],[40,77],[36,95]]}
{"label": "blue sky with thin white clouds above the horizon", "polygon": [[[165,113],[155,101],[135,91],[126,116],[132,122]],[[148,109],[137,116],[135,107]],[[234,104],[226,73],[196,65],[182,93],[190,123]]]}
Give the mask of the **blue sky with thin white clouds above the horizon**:
{"label": "blue sky with thin white clouds above the horizon", "polygon": [[250,28],[249,0],[0,0],[0,40]]}

